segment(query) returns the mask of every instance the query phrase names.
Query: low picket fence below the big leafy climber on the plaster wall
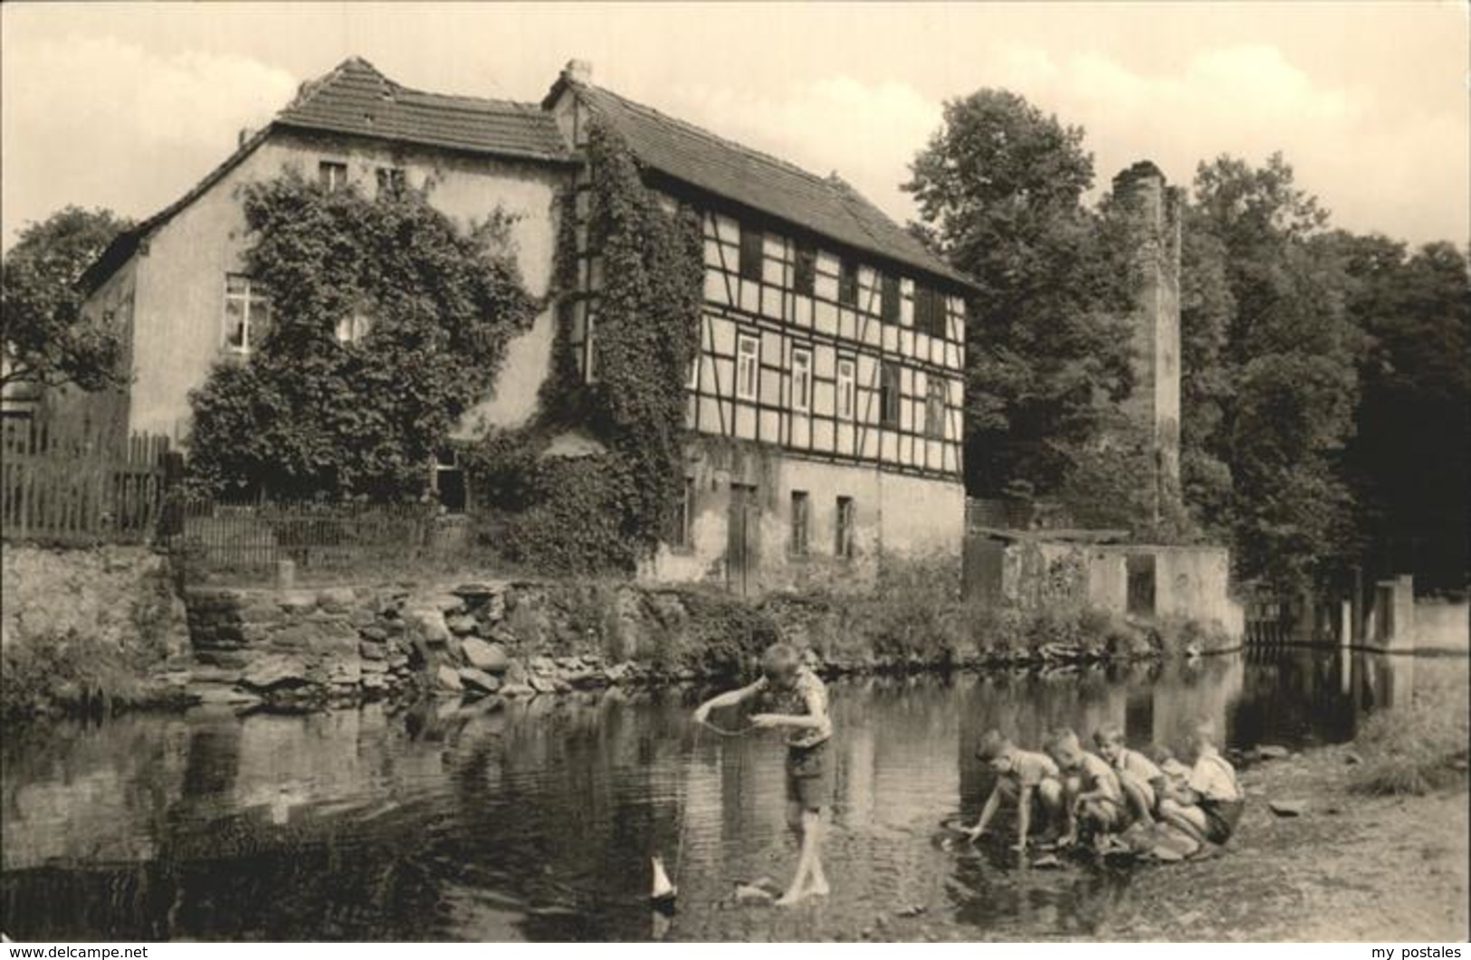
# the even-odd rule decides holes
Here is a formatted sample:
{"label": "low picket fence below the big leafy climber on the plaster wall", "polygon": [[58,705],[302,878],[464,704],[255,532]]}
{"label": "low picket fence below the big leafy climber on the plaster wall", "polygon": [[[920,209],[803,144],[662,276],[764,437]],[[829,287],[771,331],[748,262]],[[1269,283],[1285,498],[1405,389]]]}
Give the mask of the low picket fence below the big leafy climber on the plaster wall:
{"label": "low picket fence below the big leafy climber on the plaster wall", "polygon": [[171,504],[165,526],[169,550],[194,570],[265,573],[279,560],[343,570],[444,557],[463,544],[468,520],[437,503],[190,498]]}

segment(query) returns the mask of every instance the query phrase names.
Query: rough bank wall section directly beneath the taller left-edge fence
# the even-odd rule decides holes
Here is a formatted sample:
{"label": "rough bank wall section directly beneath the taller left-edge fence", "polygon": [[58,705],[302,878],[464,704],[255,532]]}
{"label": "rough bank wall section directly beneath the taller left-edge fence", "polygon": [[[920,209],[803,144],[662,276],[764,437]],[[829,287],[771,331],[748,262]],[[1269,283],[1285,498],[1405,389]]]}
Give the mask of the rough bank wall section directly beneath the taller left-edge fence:
{"label": "rough bank wall section directly beneath the taller left-edge fence", "polygon": [[153,672],[187,653],[168,562],[146,547],[6,544],[0,714],[165,706]]}

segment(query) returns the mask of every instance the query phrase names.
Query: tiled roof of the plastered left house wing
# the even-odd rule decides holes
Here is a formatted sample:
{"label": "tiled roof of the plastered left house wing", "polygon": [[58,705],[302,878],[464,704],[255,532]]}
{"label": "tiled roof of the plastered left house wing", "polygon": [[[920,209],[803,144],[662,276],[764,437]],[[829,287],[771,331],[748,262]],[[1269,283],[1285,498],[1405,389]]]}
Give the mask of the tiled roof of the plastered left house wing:
{"label": "tiled roof of the plastered left house wing", "polygon": [[303,85],[277,123],[509,157],[569,159],[556,121],[534,103],[409,90],[360,57]]}

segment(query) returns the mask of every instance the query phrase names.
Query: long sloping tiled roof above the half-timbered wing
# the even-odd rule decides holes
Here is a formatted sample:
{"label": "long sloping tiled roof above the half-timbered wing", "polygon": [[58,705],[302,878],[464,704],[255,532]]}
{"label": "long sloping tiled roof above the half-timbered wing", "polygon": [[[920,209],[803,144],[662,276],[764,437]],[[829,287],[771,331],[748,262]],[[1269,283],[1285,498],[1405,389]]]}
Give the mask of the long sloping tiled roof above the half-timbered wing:
{"label": "long sloping tiled roof above the half-timbered wing", "polygon": [[600,87],[571,85],[643,163],[666,176],[840,244],[972,285],[837,175],[809,173]]}

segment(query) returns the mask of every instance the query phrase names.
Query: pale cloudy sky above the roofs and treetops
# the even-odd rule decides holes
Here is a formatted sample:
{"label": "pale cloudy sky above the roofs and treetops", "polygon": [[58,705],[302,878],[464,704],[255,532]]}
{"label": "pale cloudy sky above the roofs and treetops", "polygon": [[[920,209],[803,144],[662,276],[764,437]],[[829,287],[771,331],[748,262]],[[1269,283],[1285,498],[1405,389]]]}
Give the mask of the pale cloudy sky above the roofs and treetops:
{"label": "pale cloudy sky above the roofs and treetops", "polygon": [[1471,235],[1465,3],[0,6],[0,235],[69,204],[147,216],[357,54],[419,90],[596,84],[840,172],[899,222],[947,98],[1016,91],[1087,131],[1102,188],[1281,150],[1356,232]]}

